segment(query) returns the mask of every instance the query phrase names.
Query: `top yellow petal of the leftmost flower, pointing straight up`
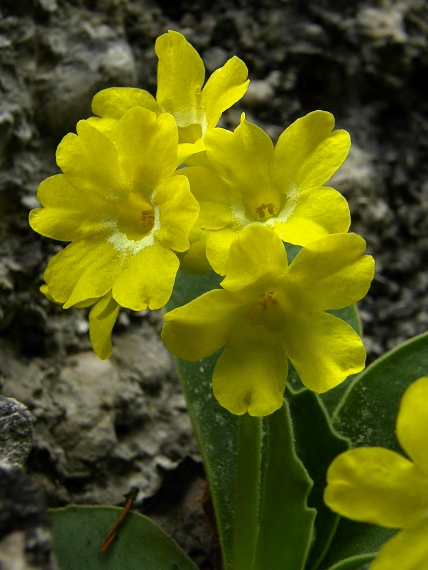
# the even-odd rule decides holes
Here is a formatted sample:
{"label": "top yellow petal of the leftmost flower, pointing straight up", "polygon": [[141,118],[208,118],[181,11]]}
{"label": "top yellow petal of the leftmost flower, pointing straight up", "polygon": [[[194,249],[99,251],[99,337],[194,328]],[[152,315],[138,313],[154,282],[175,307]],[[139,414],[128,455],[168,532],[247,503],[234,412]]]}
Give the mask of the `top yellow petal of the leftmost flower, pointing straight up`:
{"label": "top yellow petal of the leftmost flower, pointing straight up", "polygon": [[144,195],[174,173],[178,134],[171,115],[156,119],[151,111],[134,107],[118,122],[115,142],[129,184]]}

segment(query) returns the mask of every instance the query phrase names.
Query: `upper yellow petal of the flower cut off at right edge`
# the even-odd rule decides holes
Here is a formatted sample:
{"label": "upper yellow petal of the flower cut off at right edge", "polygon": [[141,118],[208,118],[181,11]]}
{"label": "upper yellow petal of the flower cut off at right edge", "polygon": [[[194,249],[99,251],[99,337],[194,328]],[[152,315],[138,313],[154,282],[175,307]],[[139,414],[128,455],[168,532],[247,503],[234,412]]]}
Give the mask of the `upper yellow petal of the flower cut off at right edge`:
{"label": "upper yellow petal of the flower cut off at right edge", "polygon": [[428,475],[428,377],[411,384],[401,399],[397,438],[416,466]]}

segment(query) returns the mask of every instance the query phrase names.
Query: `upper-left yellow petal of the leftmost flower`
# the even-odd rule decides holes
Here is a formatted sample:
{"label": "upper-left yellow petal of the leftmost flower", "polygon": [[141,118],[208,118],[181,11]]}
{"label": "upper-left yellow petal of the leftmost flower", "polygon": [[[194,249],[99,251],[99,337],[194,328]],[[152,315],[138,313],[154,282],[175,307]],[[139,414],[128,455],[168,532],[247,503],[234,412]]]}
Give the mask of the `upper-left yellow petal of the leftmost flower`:
{"label": "upper-left yellow petal of the leftmost flower", "polygon": [[56,159],[68,180],[102,197],[106,189],[122,193],[124,179],[114,144],[88,121],[77,123],[77,135],[69,133],[60,142]]}

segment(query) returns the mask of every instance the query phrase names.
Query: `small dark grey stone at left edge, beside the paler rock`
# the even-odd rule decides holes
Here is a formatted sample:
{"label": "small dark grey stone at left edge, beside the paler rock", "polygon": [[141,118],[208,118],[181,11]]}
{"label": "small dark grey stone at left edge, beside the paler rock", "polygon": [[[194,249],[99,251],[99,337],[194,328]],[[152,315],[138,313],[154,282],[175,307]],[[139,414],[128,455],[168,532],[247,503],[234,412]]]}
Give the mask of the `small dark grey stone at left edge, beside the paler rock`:
{"label": "small dark grey stone at left edge, beside the paler rock", "polygon": [[23,465],[33,445],[33,421],[28,409],[0,396],[0,461]]}

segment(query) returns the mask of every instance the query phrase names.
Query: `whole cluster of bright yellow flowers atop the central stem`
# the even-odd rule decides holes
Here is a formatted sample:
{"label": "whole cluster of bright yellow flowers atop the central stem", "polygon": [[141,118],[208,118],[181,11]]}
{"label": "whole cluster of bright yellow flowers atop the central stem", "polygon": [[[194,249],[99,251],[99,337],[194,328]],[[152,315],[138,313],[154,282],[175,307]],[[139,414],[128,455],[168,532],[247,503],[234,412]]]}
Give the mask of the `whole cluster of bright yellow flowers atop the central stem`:
{"label": "whole cluster of bright yellow flowers atop the central stem", "polygon": [[[39,187],[32,228],[71,242],[50,260],[42,291],[64,308],[92,306],[91,342],[107,358],[121,307],[161,308],[179,268],[213,269],[222,289],[167,313],[164,342],[189,360],[225,346],[217,399],[236,414],[270,414],[288,360],[316,392],[364,367],[361,339],[326,313],[361,299],[374,272],[364,240],[348,233],[346,200],[325,186],[349,135],[324,111],[295,121],[276,146],[244,115],[234,132],[218,128],[247,90],[245,64],[231,58],[204,85],[181,34],[160,36],[155,50],[156,98],[98,93],[95,116],[58,147],[62,174]],[[290,264],[284,242],[302,247]]]}

